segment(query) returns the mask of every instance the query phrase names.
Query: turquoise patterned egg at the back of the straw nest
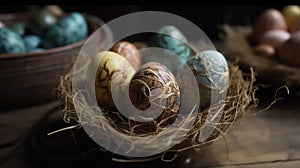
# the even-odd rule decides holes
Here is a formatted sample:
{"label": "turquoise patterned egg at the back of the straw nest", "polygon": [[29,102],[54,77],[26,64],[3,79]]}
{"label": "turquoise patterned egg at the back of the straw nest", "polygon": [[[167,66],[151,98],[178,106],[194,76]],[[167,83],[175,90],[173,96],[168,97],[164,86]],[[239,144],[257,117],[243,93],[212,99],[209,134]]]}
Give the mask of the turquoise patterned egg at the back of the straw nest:
{"label": "turquoise patterned egg at the back of the straw nest", "polygon": [[193,50],[187,45],[187,38],[172,25],[162,27],[154,36],[154,43],[158,47],[175,53],[184,62],[193,55]]}

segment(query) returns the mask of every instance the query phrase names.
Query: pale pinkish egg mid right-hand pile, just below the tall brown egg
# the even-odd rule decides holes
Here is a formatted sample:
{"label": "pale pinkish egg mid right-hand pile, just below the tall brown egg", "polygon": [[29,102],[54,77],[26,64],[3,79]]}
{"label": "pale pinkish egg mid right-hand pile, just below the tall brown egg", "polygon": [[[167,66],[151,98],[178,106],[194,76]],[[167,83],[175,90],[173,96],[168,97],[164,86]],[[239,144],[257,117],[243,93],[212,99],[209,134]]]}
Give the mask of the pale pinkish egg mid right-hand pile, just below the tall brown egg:
{"label": "pale pinkish egg mid right-hand pile, just below the tall brown egg", "polygon": [[279,50],[281,45],[290,37],[291,34],[285,30],[269,30],[262,35],[259,43],[269,44]]}

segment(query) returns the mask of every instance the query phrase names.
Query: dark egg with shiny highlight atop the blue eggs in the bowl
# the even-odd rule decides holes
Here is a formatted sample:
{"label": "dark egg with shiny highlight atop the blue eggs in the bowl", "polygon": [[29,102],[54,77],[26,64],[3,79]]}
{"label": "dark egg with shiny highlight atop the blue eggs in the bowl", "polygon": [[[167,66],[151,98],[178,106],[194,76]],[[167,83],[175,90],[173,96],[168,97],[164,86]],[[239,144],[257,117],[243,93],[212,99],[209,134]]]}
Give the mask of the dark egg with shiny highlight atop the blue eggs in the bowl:
{"label": "dark egg with shiny highlight atop the blue eggs in the bowl", "polygon": [[45,9],[40,9],[32,12],[29,19],[28,28],[37,35],[42,35],[44,31],[54,25],[57,21],[55,15]]}

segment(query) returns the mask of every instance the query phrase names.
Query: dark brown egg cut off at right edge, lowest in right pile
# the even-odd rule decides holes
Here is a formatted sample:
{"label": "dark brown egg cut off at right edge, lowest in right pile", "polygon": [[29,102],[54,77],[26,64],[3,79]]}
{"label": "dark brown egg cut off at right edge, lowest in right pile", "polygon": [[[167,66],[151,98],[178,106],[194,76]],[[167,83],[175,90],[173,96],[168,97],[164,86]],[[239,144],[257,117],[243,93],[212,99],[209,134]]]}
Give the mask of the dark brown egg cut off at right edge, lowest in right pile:
{"label": "dark brown egg cut off at right edge, lowest in right pile", "polygon": [[300,66],[300,31],[291,34],[291,38],[279,49],[279,58],[289,64]]}

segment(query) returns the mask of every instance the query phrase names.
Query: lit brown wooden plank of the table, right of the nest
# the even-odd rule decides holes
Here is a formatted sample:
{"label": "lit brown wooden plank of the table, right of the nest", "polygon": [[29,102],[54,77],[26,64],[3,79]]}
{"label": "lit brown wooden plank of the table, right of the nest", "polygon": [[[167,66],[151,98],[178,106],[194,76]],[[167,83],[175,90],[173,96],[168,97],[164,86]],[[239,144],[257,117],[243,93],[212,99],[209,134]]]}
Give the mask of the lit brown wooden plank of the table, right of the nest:
{"label": "lit brown wooden plank of the table, right of the nest", "polygon": [[264,113],[244,117],[225,139],[199,152],[189,152],[185,158],[190,167],[300,159],[300,106],[279,104]]}

